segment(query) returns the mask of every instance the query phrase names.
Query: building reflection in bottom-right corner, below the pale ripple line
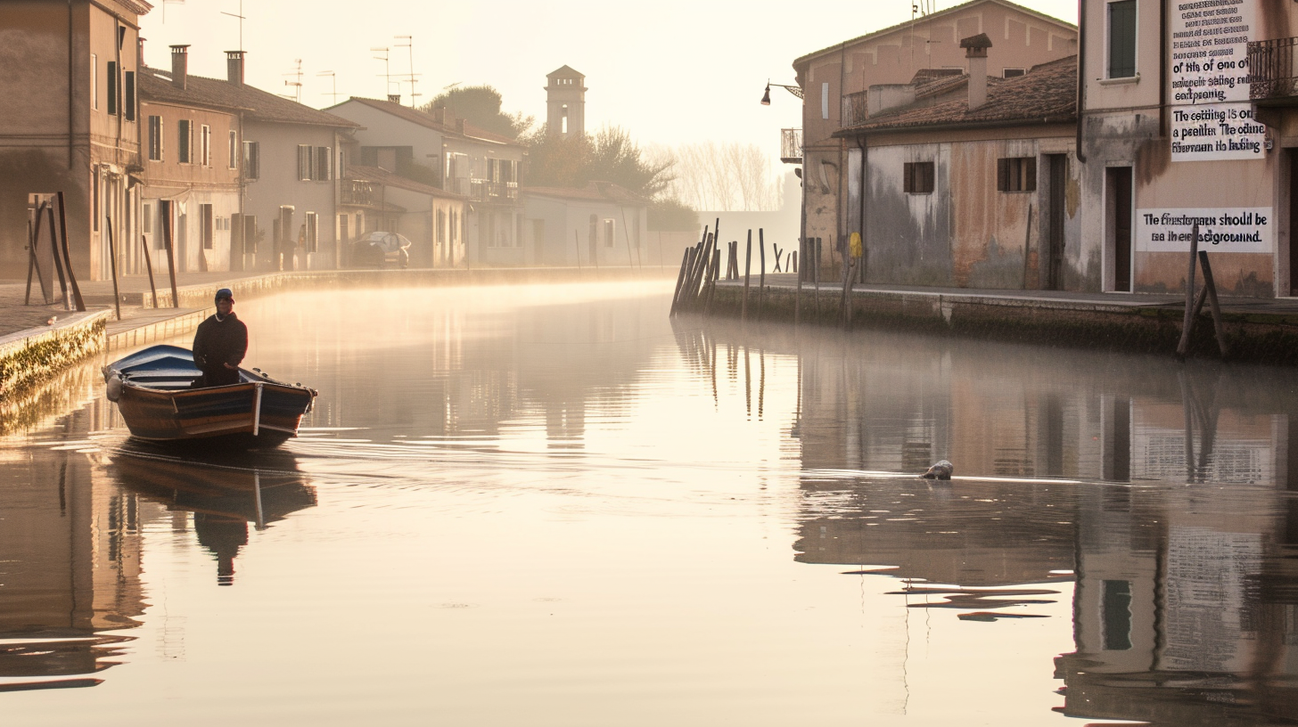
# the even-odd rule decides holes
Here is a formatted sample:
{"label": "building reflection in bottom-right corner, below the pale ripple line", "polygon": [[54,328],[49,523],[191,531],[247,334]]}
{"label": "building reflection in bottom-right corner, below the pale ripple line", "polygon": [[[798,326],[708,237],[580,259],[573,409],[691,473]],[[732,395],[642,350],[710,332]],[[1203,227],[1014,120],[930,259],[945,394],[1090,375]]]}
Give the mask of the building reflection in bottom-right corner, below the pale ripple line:
{"label": "building reflection in bottom-right corner, below the pale ripple line", "polygon": [[1298,502],[1275,491],[1088,493],[1066,714],[1256,724],[1298,714]]}

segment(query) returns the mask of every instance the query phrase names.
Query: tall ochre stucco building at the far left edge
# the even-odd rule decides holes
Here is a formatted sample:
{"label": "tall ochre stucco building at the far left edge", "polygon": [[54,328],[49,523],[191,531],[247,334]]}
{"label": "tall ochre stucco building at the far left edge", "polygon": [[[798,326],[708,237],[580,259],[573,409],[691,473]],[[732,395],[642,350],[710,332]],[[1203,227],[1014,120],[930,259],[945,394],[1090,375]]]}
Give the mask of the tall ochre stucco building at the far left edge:
{"label": "tall ochre stucco building at the far left edge", "polygon": [[[0,274],[27,271],[29,195],[64,192],[73,270],[112,275],[106,219],[136,239],[140,0],[0,3]],[[48,248],[45,248],[48,251]],[[43,261],[49,270],[52,261]]]}

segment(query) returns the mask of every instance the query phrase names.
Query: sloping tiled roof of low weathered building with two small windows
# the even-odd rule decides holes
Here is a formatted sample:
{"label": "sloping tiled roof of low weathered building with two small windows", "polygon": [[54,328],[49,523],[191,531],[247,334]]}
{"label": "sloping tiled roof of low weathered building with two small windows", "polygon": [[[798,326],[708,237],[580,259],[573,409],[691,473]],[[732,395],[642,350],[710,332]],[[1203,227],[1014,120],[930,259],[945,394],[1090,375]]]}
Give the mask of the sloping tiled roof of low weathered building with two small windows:
{"label": "sloping tiled roof of low weathered building with two small windows", "polygon": [[998,83],[988,79],[986,103],[970,110],[968,97],[933,106],[905,108],[871,117],[835,136],[924,126],[1014,122],[1068,123],[1077,118],[1077,56],[1033,66],[1027,74]]}

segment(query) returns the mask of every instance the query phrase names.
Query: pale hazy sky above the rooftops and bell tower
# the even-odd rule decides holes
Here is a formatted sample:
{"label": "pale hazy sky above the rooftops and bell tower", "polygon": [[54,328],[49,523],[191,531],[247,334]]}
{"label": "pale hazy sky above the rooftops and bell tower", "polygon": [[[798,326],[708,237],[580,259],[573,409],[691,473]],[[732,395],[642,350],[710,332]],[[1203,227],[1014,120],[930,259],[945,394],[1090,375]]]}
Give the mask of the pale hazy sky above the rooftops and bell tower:
{"label": "pale hazy sky above the rooftops and bell tower", "polygon": [[[167,45],[188,43],[190,69],[225,78],[223,51],[239,47],[240,0],[151,0],[143,19],[145,61],[170,65]],[[923,0],[918,0],[922,5]],[[929,1],[936,9],[959,3]],[[1022,4],[1077,21],[1076,0]],[[243,0],[247,78],[292,93],[301,58],[301,101],[324,108],[337,83],[348,96],[384,97],[389,48],[393,80],[409,78],[427,101],[452,83],[495,86],[505,110],[544,121],[545,74],[569,65],[587,77],[587,129],[618,125],[641,145],[739,140],[779,151],[779,130],[801,126],[800,101],[774,88],[793,83],[793,58],[911,18],[909,0],[820,0],[806,23],[794,3],[570,0],[567,3],[424,3],[411,0]],[[322,77],[334,71],[335,77]],[[392,92],[396,92],[393,83]],[[400,92],[409,103],[410,84]]]}

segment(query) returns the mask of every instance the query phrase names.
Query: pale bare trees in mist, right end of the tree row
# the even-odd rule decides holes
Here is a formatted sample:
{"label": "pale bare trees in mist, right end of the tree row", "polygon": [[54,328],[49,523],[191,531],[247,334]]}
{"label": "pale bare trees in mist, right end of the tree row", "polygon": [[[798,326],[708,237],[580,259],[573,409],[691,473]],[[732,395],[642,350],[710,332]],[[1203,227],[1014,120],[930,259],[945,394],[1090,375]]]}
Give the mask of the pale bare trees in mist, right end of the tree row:
{"label": "pale bare trees in mist, right end of the tree row", "polygon": [[784,180],[757,144],[704,142],[653,147],[657,164],[675,162],[667,193],[694,209],[770,212],[780,209]]}

